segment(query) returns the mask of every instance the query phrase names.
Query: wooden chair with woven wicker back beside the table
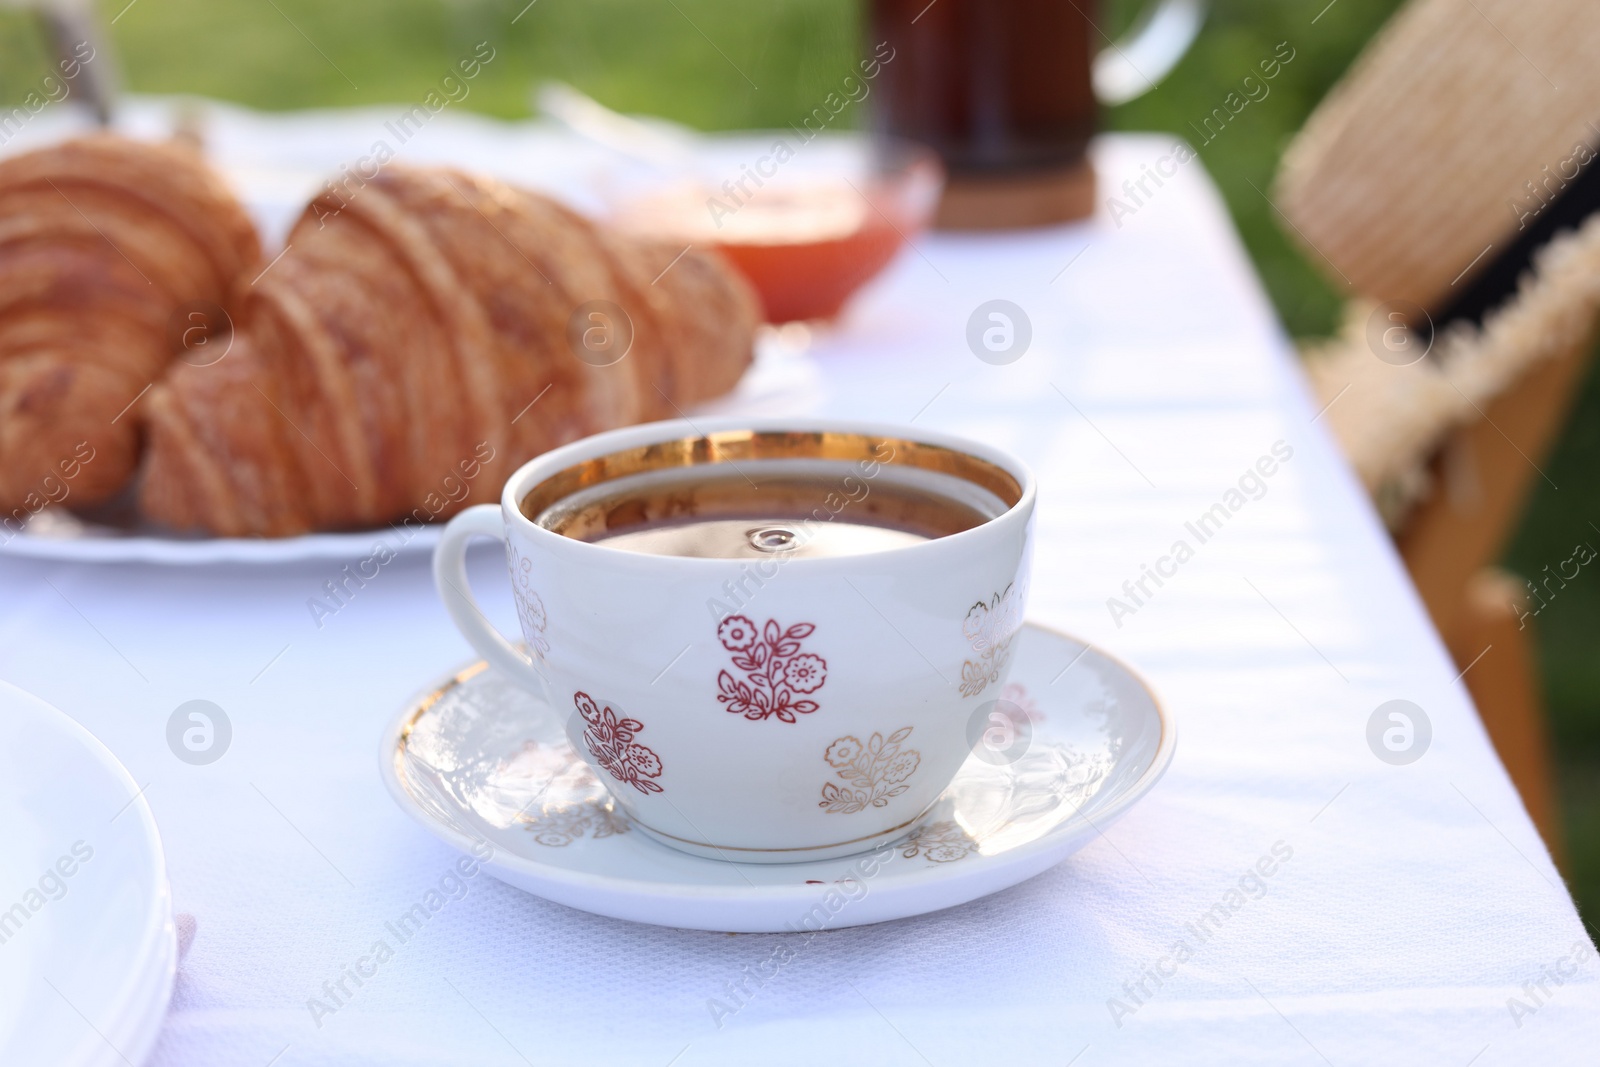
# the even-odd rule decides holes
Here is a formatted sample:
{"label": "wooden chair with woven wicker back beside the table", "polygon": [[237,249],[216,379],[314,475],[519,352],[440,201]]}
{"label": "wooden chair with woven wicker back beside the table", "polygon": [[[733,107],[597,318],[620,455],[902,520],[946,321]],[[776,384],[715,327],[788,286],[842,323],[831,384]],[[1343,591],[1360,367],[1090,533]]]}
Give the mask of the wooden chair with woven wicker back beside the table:
{"label": "wooden chair with woven wicker back beside the table", "polygon": [[1600,5],[1413,0],[1285,154],[1275,202],[1350,293],[1323,416],[1560,859],[1526,582],[1496,566],[1600,323]]}

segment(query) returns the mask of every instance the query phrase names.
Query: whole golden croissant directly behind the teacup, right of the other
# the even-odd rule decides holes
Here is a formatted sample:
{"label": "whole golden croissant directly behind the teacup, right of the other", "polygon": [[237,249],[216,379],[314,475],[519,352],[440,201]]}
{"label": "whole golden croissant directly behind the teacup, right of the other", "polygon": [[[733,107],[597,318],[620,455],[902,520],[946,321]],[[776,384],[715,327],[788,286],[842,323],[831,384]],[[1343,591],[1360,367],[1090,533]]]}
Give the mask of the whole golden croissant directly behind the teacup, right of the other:
{"label": "whole golden croissant directly behind the teacup, right of the other", "polygon": [[227,358],[150,390],[139,506],[227,536],[442,518],[541,451],[731,389],[757,307],[714,254],[389,166],[240,285]]}

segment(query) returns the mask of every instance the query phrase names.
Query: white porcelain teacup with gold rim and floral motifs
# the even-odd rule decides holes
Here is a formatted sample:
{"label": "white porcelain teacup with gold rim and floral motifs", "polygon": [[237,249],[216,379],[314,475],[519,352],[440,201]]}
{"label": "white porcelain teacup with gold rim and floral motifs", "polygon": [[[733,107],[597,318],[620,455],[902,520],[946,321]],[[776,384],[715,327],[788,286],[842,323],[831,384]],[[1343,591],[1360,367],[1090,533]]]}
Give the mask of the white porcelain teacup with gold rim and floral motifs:
{"label": "white porcelain teacup with gold rim and floral motifs", "polygon": [[[592,544],[523,510],[549,522],[552,504],[595,486],[730,467],[754,482],[838,475],[811,520],[787,522],[802,545],[894,486],[934,488],[986,520],[856,555],[702,558]],[[525,464],[498,507],[450,522],[434,574],[472,646],[568,717],[573,745],[643,832],[717,859],[827,859],[907,833],[987,725],[1022,625],[1034,499],[1021,461],[944,434],[656,422]],[[478,536],[506,542],[526,653],[467,587]]]}

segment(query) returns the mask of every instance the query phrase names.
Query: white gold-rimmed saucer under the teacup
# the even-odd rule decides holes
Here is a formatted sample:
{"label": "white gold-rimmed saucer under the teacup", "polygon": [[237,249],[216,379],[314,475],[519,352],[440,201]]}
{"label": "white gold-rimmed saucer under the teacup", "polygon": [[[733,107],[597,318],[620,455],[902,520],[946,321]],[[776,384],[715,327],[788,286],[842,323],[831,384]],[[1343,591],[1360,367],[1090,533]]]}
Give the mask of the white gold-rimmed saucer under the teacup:
{"label": "white gold-rimmed saucer under the teacup", "polygon": [[560,715],[483,662],[408,704],[379,760],[395,801],[434,835],[493,849],[485,870],[570,907],[739,933],[880,923],[1058,864],[1171,761],[1173,720],[1131,669],[1034,624],[1018,649],[1003,699],[1030,721],[1026,752],[1005,765],[970,757],[907,837],[843,859],[734,864],[648,838],[573,752]]}

